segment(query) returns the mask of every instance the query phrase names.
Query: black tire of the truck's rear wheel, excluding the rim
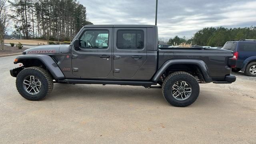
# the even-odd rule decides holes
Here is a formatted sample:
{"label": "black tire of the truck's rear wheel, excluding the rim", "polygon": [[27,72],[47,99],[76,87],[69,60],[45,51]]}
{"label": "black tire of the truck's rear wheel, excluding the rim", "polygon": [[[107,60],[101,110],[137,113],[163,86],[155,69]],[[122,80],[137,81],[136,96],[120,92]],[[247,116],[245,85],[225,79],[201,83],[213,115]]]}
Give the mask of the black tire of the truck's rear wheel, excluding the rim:
{"label": "black tire of the truck's rear wheel, excluding the rim", "polygon": [[[172,86],[177,81],[186,81],[191,86],[192,93],[186,100],[176,100],[172,96],[172,92],[171,92]],[[177,106],[177,107],[186,107],[194,103],[198,98],[199,92],[200,92],[200,87],[196,78],[194,78],[194,76],[192,76],[187,72],[180,71],[180,72],[174,72],[170,74],[165,78],[164,83],[162,85],[162,94],[166,99],[166,101],[169,102],[172,106]]]}

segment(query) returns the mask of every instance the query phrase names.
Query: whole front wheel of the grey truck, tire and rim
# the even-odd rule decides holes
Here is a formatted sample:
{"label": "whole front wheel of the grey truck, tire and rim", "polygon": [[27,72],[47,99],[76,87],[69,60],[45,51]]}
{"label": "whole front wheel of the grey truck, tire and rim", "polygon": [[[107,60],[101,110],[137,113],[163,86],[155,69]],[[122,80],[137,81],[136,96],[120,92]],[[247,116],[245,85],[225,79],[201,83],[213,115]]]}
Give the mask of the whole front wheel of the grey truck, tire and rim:
{"label": "whole front wheel of the grey truck, tire and rim", "polygon": [[16,88],[27,100],[42,100],[52,91],[52,76],[41,67],[25,68],[17,75]]}

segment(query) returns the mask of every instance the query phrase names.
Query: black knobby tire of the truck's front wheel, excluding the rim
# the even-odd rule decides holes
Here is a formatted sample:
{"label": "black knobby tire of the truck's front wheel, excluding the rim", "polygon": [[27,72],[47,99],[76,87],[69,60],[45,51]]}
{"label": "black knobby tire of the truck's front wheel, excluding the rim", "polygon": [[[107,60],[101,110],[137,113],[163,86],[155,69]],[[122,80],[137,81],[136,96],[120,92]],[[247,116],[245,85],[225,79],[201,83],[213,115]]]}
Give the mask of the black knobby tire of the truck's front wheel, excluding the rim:
{"label": "black knobby tire of the truck's front wheel, excluding the rim", "polygon": [[[23,81],[27,76],[36,76],[37,78],[40,79],[41,82],[41,89],[38,94],[29,94],[26,92],[26,90],[23,88]],[[44,68],[41,67],[29,67],[25,68],[22,70],[16,78],[16,88],[20,95],[23,98],[26,98],[27,100],[42,100],[46,98],[52,92],[53,88],[53,81],[52,81],[52,76],[45,70]]]}

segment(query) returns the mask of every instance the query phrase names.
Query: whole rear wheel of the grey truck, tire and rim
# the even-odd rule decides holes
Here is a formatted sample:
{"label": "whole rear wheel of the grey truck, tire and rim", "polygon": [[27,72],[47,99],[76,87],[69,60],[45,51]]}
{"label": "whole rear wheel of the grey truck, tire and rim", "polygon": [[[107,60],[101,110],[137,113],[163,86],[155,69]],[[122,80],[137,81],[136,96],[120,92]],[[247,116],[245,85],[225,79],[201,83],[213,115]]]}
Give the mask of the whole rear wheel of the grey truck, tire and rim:
{"label": "whole rear wheel of the grey truck, tire and rim", "polygon": [[185,107],[196,101],[200,92],[199,84],[187,72],[174,72],[165,78],[162,94],[173,106]]}

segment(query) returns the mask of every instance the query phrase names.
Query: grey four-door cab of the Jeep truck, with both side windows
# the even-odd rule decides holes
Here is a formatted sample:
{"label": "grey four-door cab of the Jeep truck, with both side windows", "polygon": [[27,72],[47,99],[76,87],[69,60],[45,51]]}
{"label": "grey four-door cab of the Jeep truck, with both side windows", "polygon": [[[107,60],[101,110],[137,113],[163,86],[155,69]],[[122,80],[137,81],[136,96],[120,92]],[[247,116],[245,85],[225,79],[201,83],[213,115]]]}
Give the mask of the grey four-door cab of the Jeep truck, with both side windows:
{"label": "grey four-door cab of the Jeep truck, with both side windows", "polygon": [[[78,49],[74,45],[71,48],[72,68],[76,69],[73,76],[150,80],[157,68],[156,30],[156,26],[148,25],[85,26],[74,38],[79,40]],[[104,40],[105,44],[97,46],[96,39]]]}

